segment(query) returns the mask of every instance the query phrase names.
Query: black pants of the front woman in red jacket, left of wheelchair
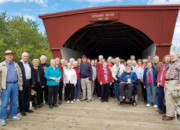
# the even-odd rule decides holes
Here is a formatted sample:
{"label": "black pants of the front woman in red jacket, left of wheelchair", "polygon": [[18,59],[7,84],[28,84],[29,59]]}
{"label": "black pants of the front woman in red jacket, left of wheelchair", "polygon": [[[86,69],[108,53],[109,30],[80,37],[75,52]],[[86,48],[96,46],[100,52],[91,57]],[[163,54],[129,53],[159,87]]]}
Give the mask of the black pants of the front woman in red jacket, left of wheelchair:
{"label": "black pants of the front woman in red jacket, left of wheelchair", "polygon": [[109,98],[109,84],[101,85],[101,101],[108,101]]}

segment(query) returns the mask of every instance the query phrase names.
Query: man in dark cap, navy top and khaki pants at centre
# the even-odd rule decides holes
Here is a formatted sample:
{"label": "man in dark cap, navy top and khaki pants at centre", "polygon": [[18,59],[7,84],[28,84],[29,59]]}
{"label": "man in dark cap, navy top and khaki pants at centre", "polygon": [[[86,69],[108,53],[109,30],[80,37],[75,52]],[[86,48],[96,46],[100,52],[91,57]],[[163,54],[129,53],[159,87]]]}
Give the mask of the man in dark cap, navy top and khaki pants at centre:
{"label": "man in dark cap, navy top and khaki pants at centre", "polygon": [[82,56],[82,63],[80,65],[80,77],[81,77],[81,86],[83,92],[82,101],[86,100],[86,91],[87,91],[87,102],[91,101],[91,81],[92,81],[92,67],[91,64],[87,62],[87,57]]}

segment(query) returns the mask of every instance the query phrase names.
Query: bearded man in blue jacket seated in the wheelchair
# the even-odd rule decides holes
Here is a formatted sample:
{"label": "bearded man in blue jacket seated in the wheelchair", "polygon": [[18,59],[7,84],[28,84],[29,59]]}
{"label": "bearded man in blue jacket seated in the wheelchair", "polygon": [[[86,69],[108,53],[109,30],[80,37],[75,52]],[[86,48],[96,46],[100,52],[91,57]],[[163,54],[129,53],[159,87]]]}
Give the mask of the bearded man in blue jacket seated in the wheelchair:
{"label": "bearded man in blue jacket seated in the wheelchair", "polygon": [[137,88],[138,81],[136,73],[131,71],[131,66],[126,67],[126,72],[121,75],[120,81],[120,102],[123,102],[124,100],[126,102],[129,102],[132,97],[134,87]]}

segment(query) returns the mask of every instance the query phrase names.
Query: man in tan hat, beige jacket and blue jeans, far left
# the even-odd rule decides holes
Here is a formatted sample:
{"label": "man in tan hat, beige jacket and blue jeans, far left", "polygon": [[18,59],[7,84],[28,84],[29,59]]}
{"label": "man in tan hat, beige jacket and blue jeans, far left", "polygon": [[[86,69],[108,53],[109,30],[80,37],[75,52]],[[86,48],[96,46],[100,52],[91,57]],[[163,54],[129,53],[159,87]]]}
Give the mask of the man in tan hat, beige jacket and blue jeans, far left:
{"label": "man in tan hat, beige jacket and blue jeans, far left", "polygon": [[0,93],[1,93],[1,126],[6,125],[7,107],[10,99],[10,121],[19,121],[17,117],[18,89],[22,91],[22,72],[13,61],[15,53],[7,50],[4,53],[5,61],[0,63]]}

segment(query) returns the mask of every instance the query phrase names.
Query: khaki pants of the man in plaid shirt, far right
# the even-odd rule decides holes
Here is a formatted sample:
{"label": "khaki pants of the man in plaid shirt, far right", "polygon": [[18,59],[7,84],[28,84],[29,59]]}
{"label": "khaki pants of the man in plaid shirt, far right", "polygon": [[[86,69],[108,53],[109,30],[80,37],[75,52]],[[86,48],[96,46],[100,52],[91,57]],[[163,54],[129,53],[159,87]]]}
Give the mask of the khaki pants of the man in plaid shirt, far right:
{"label": "khaki pants of the man in plaid shirt, far right", "polygon": [[166,100],[166,115],[174,117],[175,115],[175,100],[172,97],[172,90],[178,85],[178,80],[165,81],[165,100]]}

